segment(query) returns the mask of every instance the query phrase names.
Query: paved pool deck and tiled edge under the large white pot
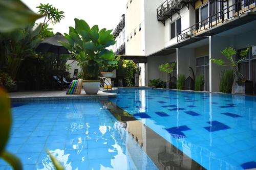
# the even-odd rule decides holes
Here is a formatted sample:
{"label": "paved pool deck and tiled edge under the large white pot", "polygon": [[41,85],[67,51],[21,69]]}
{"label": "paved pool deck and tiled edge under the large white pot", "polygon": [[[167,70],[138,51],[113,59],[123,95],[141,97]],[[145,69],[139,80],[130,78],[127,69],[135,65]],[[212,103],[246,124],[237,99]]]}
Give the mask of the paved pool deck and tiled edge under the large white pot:
{"label": "paved pool deck and tiled edge under the large white pot", "polygon": [[32,102],[32,101],[57,101],[57,100],[107,100],[117,96],[114,93],[116,89],[111,92],[104,92],[99,90],[98,94],[86,94],[84,90],[81,94],[66,94],[66,90],[57,91],[18,91],[10,92],[10,99],[12,102]]}

